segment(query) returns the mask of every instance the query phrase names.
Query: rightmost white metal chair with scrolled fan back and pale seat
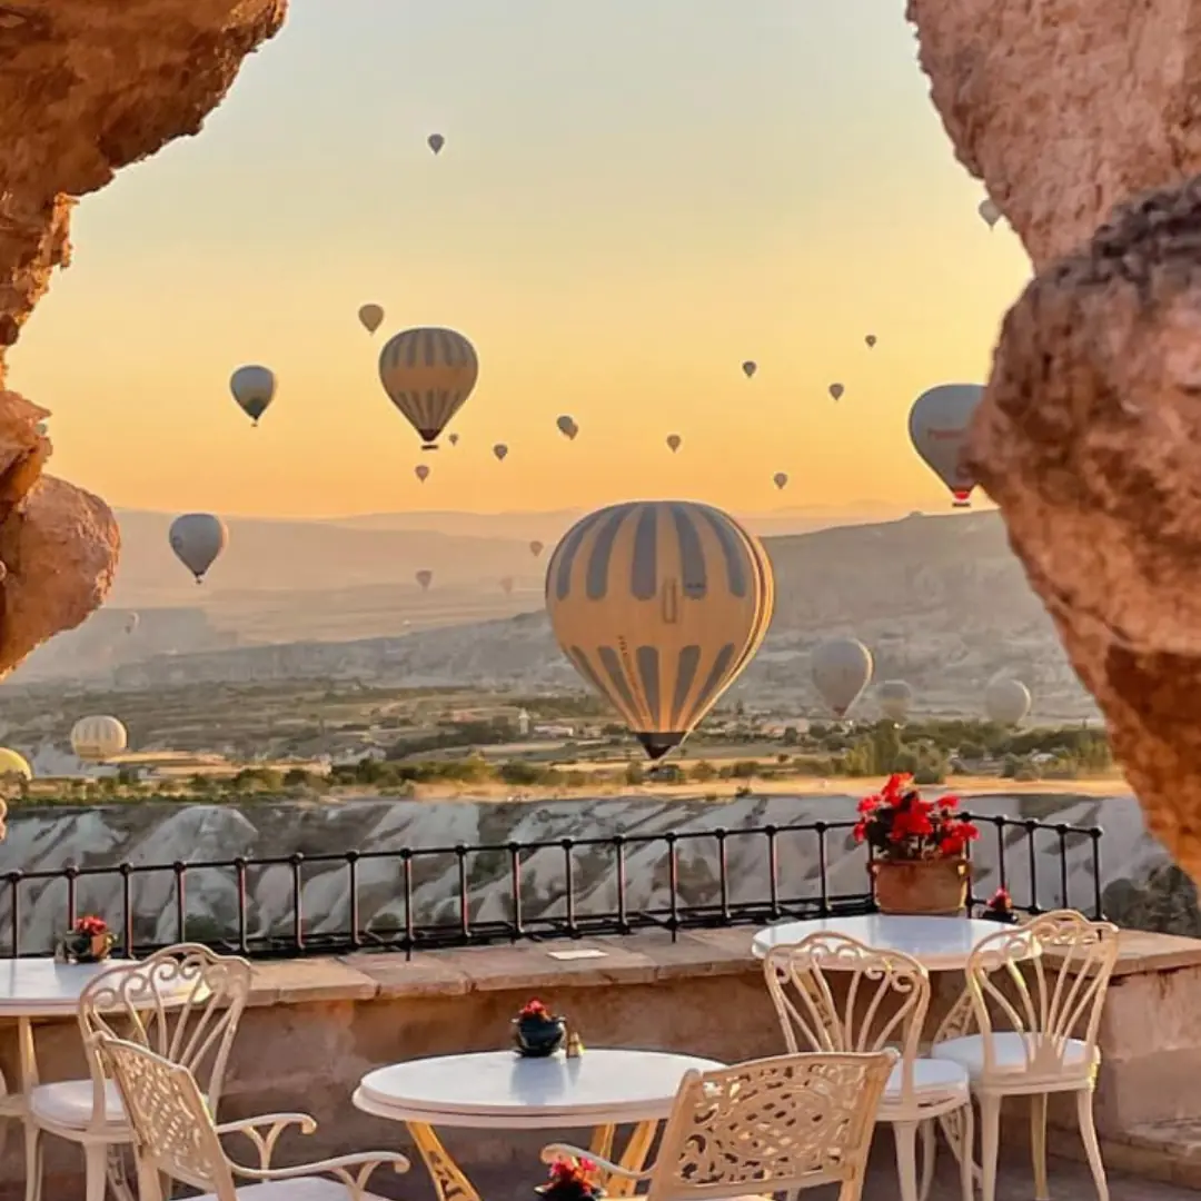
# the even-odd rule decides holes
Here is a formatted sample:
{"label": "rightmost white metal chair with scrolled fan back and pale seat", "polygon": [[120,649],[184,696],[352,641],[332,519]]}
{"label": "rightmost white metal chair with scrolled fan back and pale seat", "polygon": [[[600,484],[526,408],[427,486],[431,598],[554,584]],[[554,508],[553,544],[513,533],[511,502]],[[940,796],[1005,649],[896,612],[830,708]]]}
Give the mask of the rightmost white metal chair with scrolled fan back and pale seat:
{"label": "rightmost white metal chair with scrolled fan back and pale seat", "polygon": [[967,992],[943,1022],[931,1054],[964,1068],[980,1103],[984,1201],[996,1195],[1005,1097],[1030,1099],[1034,1195],[1048,1201],[1051,1093],[1076,1094],[1088,1166],[1098,1196],[1109,1201],[1093,1091],[1101,1062],[1097,1032],[1117,957],[1117,926],[1066,909],[990,934],[968,957]]}

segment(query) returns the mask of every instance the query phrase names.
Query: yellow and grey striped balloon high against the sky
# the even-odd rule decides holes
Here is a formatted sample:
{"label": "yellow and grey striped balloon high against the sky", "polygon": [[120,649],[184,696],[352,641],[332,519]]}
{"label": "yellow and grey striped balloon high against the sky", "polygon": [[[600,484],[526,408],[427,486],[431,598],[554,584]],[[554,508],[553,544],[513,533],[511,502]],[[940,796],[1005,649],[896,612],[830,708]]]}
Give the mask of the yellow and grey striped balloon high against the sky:
{"label": "yellow and grey striped balloon high against the sky", "polygon": [[423,450],[462,407],[479,377],[476,348],[453,329],[406,329],[380,352],[380,382],[422,436]]}

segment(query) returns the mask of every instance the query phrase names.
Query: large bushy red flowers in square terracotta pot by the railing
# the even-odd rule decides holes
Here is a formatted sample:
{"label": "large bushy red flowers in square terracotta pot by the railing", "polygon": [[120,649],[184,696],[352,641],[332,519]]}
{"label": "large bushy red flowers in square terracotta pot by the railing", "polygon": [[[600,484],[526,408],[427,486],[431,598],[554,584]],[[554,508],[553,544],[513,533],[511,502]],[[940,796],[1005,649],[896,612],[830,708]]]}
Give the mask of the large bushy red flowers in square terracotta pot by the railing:
{"label": "large bushy red flowers in square terracotta pot by the railing", "polygon": [[909,775],[889,776],[859,802],[855,842],[876,853],[867,865],[880,913],[952,915],[968,900],[968,843],[979,830],[956,812],[958,797],[924,800]]}

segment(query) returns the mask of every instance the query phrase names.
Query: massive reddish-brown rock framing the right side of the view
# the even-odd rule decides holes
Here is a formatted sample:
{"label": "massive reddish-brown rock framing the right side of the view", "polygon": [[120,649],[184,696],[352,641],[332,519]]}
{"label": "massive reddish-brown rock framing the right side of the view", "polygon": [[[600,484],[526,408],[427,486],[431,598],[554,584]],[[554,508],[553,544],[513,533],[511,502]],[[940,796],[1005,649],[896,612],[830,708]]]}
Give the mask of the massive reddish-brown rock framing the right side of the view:
{"label": "massive reddish-brown rock framing the right side of the view", "polygon": [[960,161],[1038,273],[969,459],[1151,829],[1201,880],[1201,0],[908,14]]}

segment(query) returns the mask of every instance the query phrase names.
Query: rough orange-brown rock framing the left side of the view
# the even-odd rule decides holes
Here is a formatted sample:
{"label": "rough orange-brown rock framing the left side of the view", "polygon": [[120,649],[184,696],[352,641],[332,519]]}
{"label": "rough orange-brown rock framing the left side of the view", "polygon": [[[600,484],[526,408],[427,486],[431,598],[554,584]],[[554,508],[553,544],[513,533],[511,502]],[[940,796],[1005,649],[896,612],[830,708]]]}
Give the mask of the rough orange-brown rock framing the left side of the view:
{"label": "rough orange-brown rock framing the left side of the view", "polygon": [[[74,198],[196,133],[286,0],[0,4],[0,384],[5,348],[70,256]],[[78,626],[116,567],[103,501],[42,476],[48,413],[0,390],[0,676]]]}

